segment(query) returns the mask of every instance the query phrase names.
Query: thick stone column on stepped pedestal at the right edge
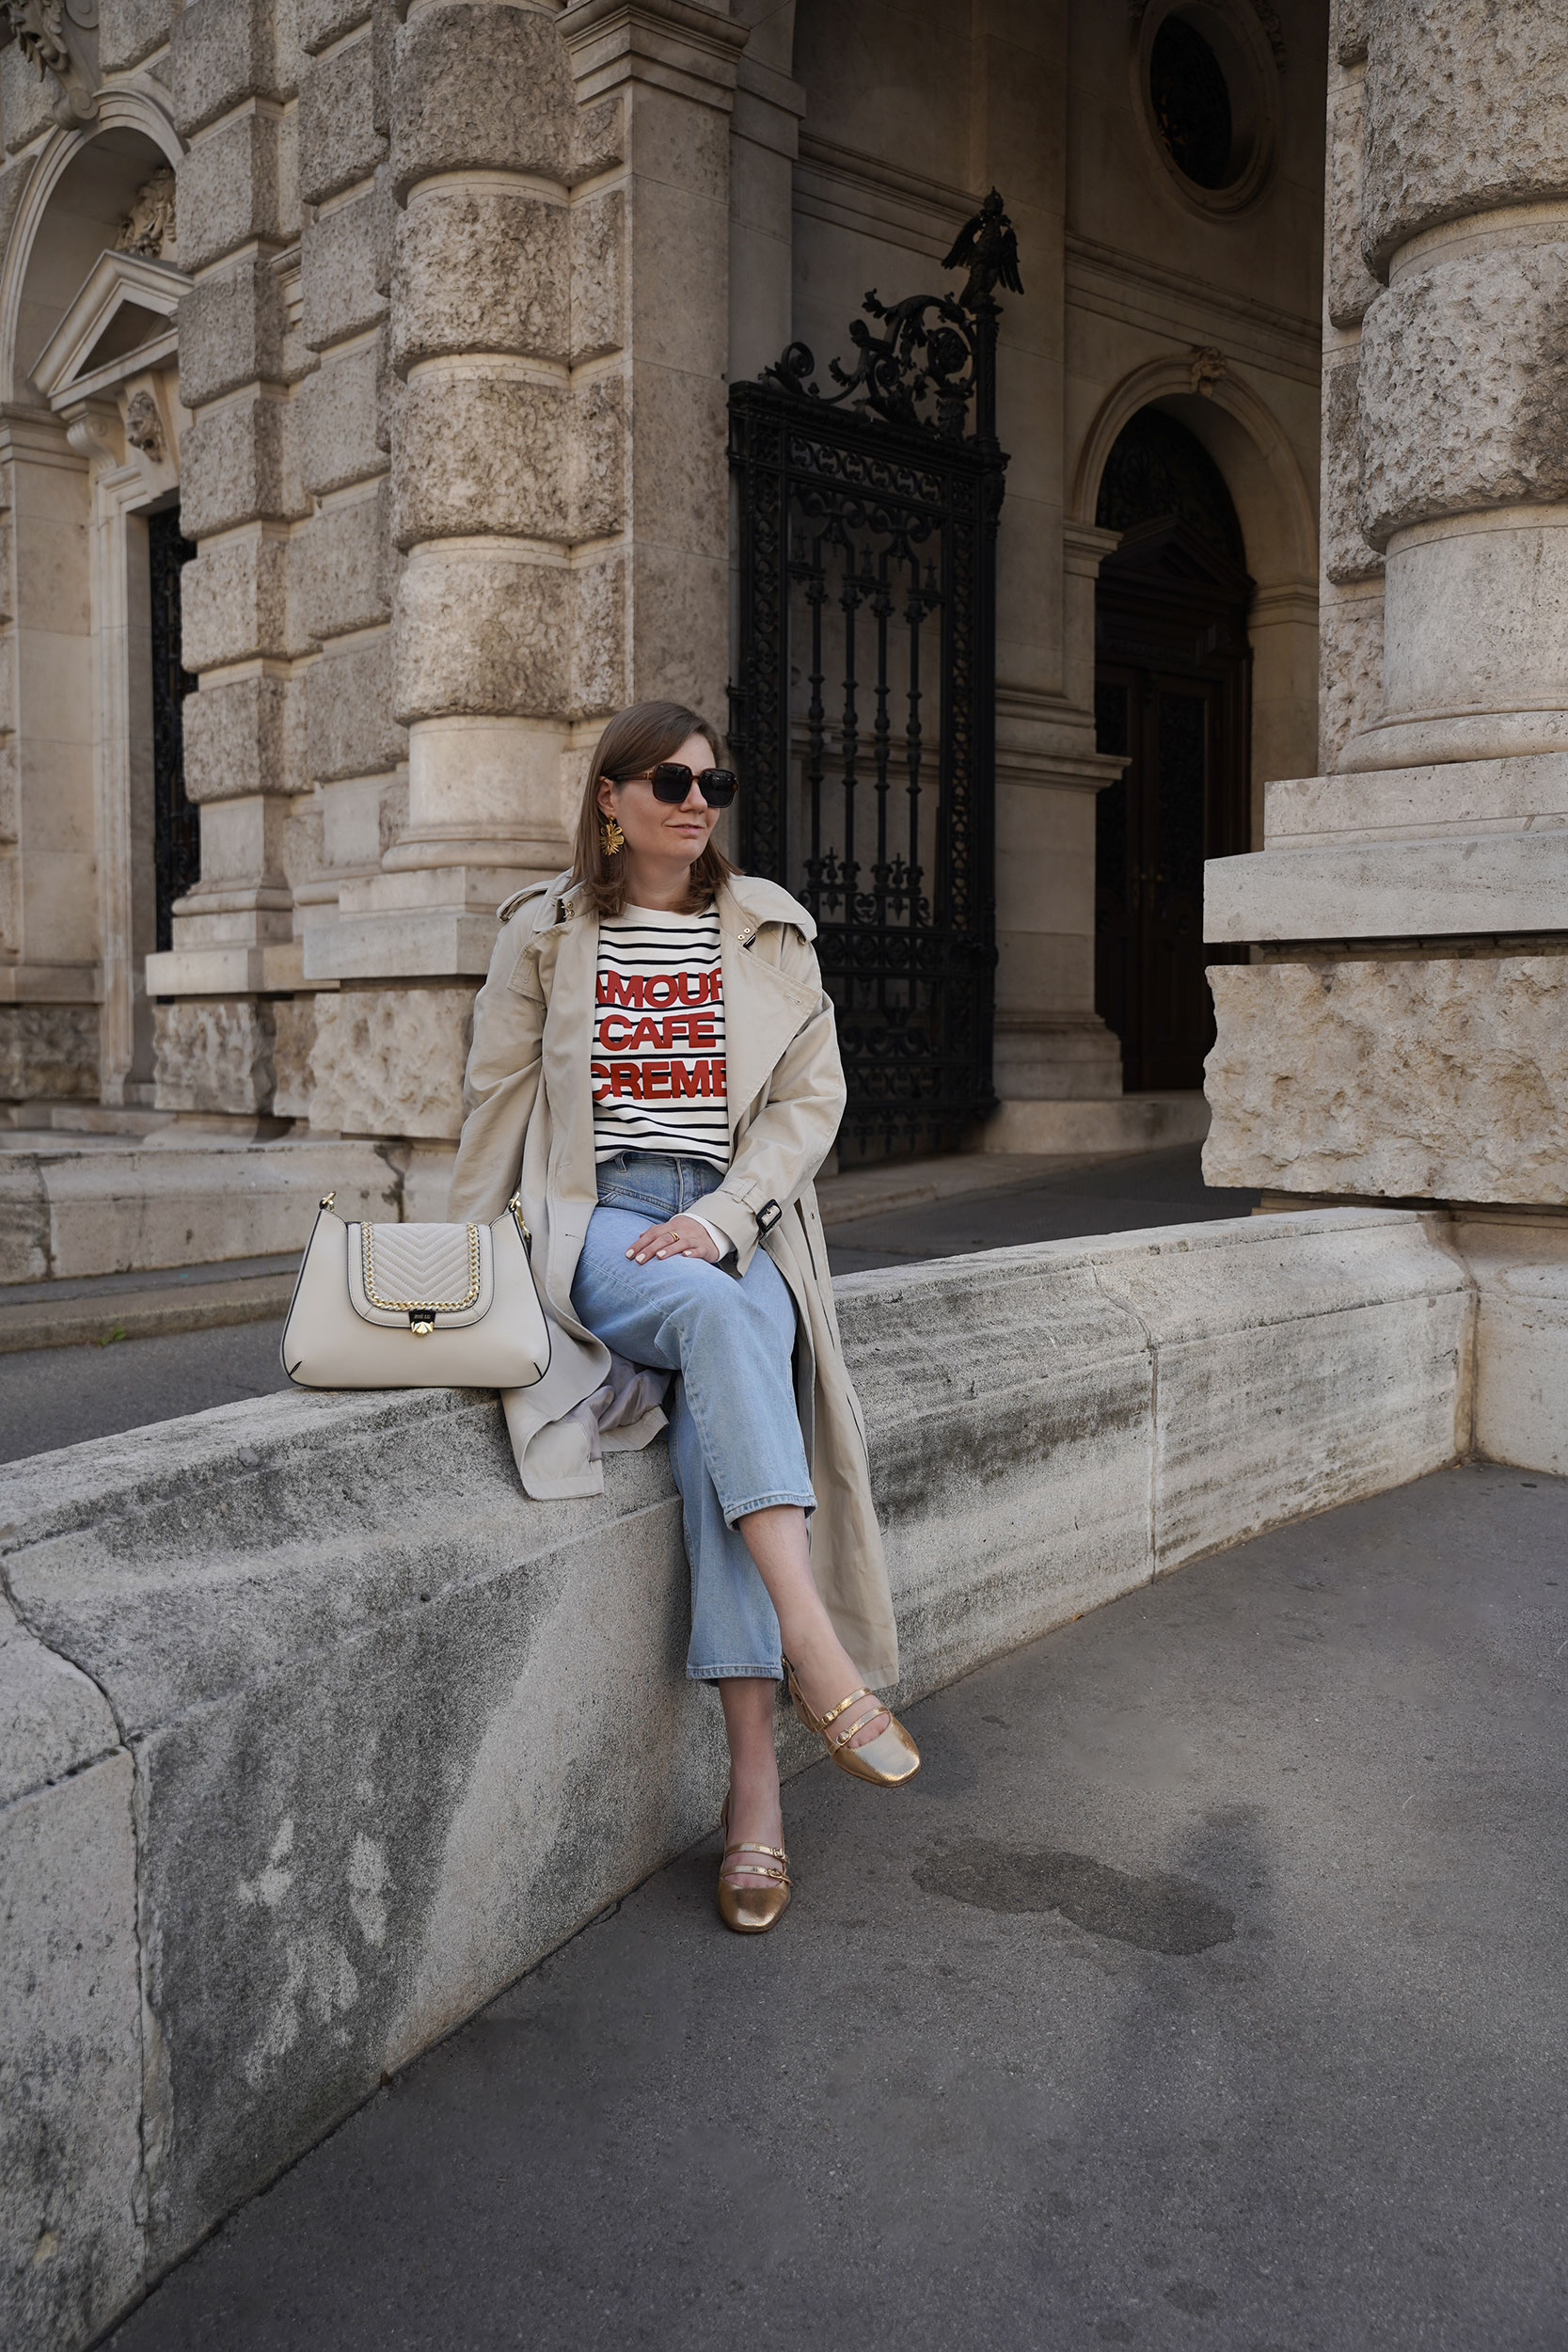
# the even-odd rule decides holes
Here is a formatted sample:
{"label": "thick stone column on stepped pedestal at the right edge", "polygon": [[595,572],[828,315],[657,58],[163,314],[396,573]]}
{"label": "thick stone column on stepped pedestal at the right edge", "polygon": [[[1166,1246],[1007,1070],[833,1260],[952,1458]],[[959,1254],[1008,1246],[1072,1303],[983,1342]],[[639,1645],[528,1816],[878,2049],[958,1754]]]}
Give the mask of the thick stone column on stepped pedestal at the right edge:
{"label": "thick stone column on stepped pedestal at the right edge", "polygon": [[1568,28],[1335,21],[1324,750],[1208,868],[1218,1183],[1450,1204],[1486,1451],[1568,1468]]}

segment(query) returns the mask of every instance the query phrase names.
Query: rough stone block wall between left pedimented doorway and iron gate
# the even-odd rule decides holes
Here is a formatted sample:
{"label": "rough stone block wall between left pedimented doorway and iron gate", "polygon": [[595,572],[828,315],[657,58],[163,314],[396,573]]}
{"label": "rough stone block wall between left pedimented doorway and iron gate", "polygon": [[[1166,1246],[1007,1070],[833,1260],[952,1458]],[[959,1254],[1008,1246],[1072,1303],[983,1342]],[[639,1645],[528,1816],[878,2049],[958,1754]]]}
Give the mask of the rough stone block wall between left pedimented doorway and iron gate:
{"label": "rough stone block wall between left pedimented doorway and iron gate", "polygon": [[150,967],[167,1108],[451,1141],[494,908],[567,861],[602,720],[724,708],[745,28],[635,16],[172,24],[202,880]]}

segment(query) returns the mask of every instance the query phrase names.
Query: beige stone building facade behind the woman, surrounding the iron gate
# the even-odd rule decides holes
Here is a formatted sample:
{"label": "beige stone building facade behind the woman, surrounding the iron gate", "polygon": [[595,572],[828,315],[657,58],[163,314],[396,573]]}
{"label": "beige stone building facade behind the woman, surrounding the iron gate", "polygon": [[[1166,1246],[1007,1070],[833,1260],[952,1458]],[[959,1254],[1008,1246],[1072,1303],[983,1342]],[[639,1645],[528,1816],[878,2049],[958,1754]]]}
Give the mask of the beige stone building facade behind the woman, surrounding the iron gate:
{"label": "beige stone building facade behind the woman, surrounding the iron gate", "polygon": [[[1206,209],[1147,111],[1173,5],[96,0],[68,75],[2,47],[0,1014],[75,1061],[12,1054],[0,1117],[292,1122],[435,1167],[435,1058],[496,903],[569,854],[604,717],[672,694],[724,722],[731,383],[795,336],[844,353],[872,282],[950,282],[994,181],[1030,292],[1001,332],[992,1143],[1070,1148],[1079,1112],[1112,1136],[1093,515],[1143,405],[1237,501],[1255,771],[1309,767],[1314,729],[1321,12],[1206,0],[1260,127]],[[174,501],[200,866],[169,903],[148,532]],[[1335,546],[1354,604],[1382,553]]]}

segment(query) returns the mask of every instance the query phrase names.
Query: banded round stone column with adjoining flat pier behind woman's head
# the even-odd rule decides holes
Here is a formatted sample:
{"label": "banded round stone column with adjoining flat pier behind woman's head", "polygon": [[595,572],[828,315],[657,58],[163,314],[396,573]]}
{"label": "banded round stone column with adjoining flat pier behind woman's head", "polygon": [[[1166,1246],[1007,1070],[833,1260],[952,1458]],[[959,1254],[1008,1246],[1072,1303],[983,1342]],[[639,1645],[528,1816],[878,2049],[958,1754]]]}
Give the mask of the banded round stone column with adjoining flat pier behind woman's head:
{"label": "banded round stone column with adjoining flat pier behind woman's head", "polygon": [[364,1124],[367,1040],[402,1018],[449,1077],[397,1131],[456,1136],[496,903],[569,861],[604,717],[637,694],[724,717],[743,42],[703,0],[416,0],[397,33],[393,715],[409,797],[381,870],[343,882],[336,920],[306,934],[306,976],[341,985],[317,1002],[317,1124],[324,1105]]}

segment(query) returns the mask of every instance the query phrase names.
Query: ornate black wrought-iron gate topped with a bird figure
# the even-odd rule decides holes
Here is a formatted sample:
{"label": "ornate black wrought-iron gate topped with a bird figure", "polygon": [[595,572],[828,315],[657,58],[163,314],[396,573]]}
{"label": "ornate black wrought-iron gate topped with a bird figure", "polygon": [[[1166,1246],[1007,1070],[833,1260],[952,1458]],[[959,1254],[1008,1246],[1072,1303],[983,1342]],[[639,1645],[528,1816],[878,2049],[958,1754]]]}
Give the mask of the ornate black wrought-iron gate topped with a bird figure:
{"label": "ornate black wrought-iron gate topped with a bird figure", "polygon": [[[839,1014],[842,1157],[943,1150],[992,1103],[994,287],[1023,292],[1001,198],[959,233],[959,296],[851,322],[729,400],[741,489],[731,746],[741,863],[816,917]],[[969,409],[973,400],[973,430]]]}

